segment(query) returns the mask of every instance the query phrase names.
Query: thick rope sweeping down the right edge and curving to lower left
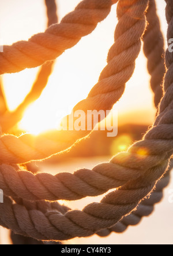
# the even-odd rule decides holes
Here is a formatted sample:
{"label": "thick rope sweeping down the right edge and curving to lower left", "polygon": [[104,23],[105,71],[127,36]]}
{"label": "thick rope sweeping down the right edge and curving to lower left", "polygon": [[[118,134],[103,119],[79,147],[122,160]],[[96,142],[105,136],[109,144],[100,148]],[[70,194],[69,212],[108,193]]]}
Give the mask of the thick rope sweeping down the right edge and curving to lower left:
{"label": "thick rope sweeping down the right edge and curving to lower left", "polygon": [[[123,5],[123,0],[119,2],[119,6],[121,4]],[[168,35],[171,36],[173,10],[172,12],[170,10],[172,10],[171,1],[167,1]],[[122,9],[119,8],[119,11]],[[103,228],[115,225],[124,215],[133,211],[138,203],[151,193],[156,182],[163,176],[173,153],[170,57],[167,51],[168,71],[164,81],[166,92],[153,127],[145,134],[144,140],[132,145],[128,152],[120,153],[111,160],[112,166],[115,167],[116,164],[126,171],[126,177],[130,171],[136,171],[139,176],[133,175],[130,179],[132,181],[126,180],[126,185],[121,186],[118,191],[109,193],[101,203],[92,203],[83,211],[67,211],[65,214],[55,210],[47,211],[46,214],[39,210],[28,210],[24,206],[13,204],[9,198],[5,197],[5,202],[0,205],[1,225],[37,239],[66,240],[74,236],[92,235]]]}

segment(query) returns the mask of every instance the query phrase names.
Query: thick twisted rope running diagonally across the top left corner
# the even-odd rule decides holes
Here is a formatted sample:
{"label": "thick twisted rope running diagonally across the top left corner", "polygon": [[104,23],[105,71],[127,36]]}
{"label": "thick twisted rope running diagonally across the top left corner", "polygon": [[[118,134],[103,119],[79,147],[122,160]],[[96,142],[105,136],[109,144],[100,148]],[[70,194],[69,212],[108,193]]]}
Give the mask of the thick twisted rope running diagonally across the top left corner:
{"label": "thick twisted rope running diagonally across the top left corner", "polygon": [[84,0],[60,24],[52,25],[44,33],[36,34],[28,41],[3,46],[0,75],[37,67],[54,60],[66,49],[76,45],[82,36],[90,34],[97,23],[107,17],[111,5],[117,1]]}

